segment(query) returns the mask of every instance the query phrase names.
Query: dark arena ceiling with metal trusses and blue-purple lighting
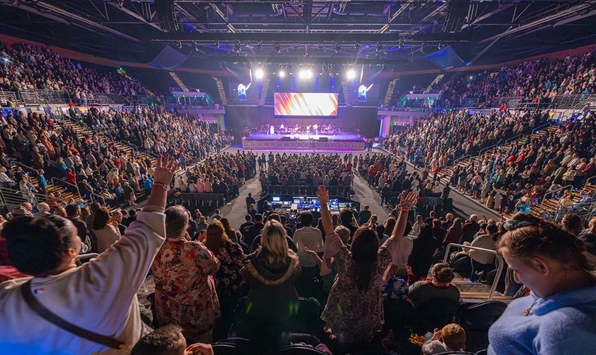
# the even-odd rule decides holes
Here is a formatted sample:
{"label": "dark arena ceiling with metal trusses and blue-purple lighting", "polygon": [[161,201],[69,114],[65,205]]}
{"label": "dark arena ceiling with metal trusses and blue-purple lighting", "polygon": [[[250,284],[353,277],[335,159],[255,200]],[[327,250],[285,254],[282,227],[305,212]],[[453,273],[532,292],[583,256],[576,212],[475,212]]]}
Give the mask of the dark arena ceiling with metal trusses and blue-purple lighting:
{"label": "dark arena ceiling with metal trusses and blue-purple lighting", "polygon": [[[0,32],[134,62],[169,45],[190,56],[184,67],[304,60],[432,67],[426,55],[447,45],[484,64],[596,43],[596,0],[176,0],[177,31],[160,26],[156,6],[164,2],[0,0]],[[457,17],[462,23],[453,26]]]}

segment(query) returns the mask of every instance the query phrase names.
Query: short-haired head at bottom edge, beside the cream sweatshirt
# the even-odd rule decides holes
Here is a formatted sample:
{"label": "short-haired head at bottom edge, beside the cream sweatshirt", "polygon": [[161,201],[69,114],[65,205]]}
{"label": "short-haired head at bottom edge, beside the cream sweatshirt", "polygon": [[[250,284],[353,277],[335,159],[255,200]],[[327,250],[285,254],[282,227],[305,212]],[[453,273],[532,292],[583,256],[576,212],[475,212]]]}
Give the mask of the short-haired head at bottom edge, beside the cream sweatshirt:
{"label": "short-haired head at bottom edge, beside the cream sweatshirt", "polygon": [[131,355],[184,355],[186,345],[182,328],[168,324],[140,338]]}

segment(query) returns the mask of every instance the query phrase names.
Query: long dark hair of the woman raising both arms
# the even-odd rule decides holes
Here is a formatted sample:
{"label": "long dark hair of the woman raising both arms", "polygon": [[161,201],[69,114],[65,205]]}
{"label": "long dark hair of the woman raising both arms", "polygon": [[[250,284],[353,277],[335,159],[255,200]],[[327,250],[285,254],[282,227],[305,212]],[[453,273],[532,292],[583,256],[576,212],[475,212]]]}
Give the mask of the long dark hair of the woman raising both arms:
{"label": "long dark hair of the woman raising both arms", "polygon": [[352,239],[351,251],[356,266],[353,277],[360,292],[370,287],[370,280],[373,279],[373,273],[377,267],[378,249],[377,232],[368,226],[358,228]]}

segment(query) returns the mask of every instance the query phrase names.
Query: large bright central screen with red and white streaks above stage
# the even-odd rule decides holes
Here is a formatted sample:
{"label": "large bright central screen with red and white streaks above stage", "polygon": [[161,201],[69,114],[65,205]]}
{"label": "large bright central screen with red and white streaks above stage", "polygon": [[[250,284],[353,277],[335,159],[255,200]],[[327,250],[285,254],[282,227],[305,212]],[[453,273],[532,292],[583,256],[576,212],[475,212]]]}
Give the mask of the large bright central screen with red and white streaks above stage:
{"label": "large bright central screen with red and white streaks above stage", "polygon": [[276,92],[275,116],[337,116],[337,94]]}

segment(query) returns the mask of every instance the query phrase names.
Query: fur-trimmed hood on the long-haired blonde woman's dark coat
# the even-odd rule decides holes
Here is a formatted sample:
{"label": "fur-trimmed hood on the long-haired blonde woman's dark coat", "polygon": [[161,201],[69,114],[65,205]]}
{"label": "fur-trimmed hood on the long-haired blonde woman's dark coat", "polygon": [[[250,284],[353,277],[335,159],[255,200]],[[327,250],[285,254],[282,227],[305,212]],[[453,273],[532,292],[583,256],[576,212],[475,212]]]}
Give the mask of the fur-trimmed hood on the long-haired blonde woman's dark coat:
{"label": "fur-trimmed hood on the long-haired blonde woman's dark coat", "polygon": [[253,278],[258,283],[263,285],[282,285],[292,278],[292,276],[299,275],[300,263],[298,261],[298,254],[293,251],[288,253],[289,263],[280,266],[279,268],[272,268],[267,265],[267,259],[260,252],[259,248],[254,253],[244,258],[244,266],[242,268],[243,275]]}

